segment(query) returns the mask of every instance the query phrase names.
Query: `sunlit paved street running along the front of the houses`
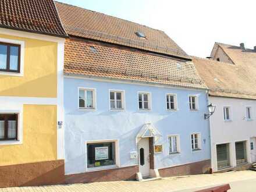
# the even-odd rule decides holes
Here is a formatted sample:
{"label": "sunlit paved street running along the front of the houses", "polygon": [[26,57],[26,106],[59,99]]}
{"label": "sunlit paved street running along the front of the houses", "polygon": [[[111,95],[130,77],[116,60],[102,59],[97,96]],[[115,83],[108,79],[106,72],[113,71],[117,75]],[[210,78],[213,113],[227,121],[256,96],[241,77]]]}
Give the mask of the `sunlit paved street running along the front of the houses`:
{"label": "sunlit paved street running along the front of the houses", "polygon": [[[232,192],[256,191],[256,172],[245,170],[212,175],[191,175],[183,177],[168,177],[152,182],[101,182],[88,184],[70,184],[42,187],[13,187],[0,189],[3,191],[182,191],[189,192],[230,183]],[[254,188],[253,188],[254,187]],[[191,190],[192,189],[192,190]]]}

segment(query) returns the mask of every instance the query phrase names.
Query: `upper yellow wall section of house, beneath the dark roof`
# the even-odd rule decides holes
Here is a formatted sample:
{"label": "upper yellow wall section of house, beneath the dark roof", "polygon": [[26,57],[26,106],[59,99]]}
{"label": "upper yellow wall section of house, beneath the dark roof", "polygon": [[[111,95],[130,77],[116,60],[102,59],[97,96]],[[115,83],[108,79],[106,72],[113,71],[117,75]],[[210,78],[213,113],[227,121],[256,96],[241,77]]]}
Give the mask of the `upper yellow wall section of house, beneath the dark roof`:
{"label": "upper yellow wall section of house, beneath the dark roof", "polygon": [[24,76],[0,74],[0,96],[56,97],[58,43],[3,34],[0,38],[25,42]]}

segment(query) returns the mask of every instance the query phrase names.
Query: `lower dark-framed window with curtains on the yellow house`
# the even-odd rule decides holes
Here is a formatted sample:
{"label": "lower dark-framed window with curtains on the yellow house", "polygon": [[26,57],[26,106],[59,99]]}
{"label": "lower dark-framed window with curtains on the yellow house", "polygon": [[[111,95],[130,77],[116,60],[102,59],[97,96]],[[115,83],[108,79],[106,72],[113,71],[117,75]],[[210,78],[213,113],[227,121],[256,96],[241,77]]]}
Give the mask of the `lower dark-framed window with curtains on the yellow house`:
{"label": "lower dark-framed window with curtains on the yellow house", "polygon": [[0,140],[17,140],[17,114],[0,114]]}

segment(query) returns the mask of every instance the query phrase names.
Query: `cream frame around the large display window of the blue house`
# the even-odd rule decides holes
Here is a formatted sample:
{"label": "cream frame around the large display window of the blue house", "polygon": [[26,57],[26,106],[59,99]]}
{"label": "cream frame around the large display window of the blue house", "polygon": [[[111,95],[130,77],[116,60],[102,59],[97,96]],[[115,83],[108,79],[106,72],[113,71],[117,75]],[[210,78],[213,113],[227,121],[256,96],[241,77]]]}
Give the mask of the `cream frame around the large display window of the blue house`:
{"label": "cream frame around the large display window of the blue house", "polygon": [[[100,166],[97,168],[88,168],[87,167],[87,144],[94,144],[94,143],[109,143],[109,142],[113,142],[115,143],[115,165],[107,165],[107,166]],[[109,140],[90,140],[90,141],[86,141],[85,143],[85,147],[86,147],[86,172],[94,172],[94,171],[98,171],[98,170],[107,170],[107,169],[115,169],[115,168],[119,168],[120,167],[120,153],[119,153],[119,139],[109,139]]]}

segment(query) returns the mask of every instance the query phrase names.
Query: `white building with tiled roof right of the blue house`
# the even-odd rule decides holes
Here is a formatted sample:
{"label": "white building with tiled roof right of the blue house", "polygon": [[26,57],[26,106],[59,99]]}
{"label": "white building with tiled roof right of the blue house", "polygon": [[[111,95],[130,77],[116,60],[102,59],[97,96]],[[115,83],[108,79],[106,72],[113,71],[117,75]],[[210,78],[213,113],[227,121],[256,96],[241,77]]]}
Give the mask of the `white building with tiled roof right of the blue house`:
{"label": "white building with tiled roof right of the blue house", "polygon": [[216,43],[211,58],[193,62],[216,106],[209,121],[212,171],[248,169],[256,162],[256,51]]}

